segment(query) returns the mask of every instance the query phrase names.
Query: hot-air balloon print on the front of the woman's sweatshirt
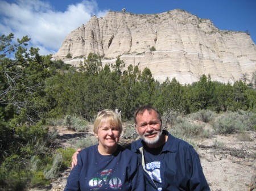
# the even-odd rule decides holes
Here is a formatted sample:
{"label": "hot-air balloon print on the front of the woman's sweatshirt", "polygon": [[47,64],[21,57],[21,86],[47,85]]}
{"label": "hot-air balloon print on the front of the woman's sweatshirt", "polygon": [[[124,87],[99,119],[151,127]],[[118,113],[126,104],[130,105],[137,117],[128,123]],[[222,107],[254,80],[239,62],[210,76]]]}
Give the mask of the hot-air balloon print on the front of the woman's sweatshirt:
{"label": "hot-air balloon print on the front of the woman's sweatshirt", "polygon": [[113,173],[112,169],[106,169],[102,171],[101,177],[103,181],[98,178],[91,179],[89,181],[90,188],[92,188],[93,190],[98,190],[105,184],[106,186],[110,186],[110,188],[112,188],[113,190],[120,189],[122,186],[122,181],[118,177],[113,177],[112,179],[110,179],[110,177],[112,176],[112,173]]}

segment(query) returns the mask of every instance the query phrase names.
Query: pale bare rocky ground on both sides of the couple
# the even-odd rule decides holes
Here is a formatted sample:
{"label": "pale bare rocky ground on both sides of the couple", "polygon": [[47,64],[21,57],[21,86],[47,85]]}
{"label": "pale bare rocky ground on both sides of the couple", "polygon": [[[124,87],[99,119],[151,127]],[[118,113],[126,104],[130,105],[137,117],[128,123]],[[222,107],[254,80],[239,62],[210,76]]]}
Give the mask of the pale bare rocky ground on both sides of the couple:
{"label": "pale bare rocky ground on both sides of the couple", "polygon": [[[58,128],[59,139],[67,147],[71,138],[86,137],[90,133],[76,133]],[[256,132],[243,134],[213,135],[208,139],[194,140],[205,177],[212,191],[253,190],[251,178],[256,175]],[[30,191],[61,191],[65,188],[71,169],[59,172],[47,188],[34,188]],[[255,185],[255,176],[253,177]],[[256,188],[254,189],[256,190]]]}

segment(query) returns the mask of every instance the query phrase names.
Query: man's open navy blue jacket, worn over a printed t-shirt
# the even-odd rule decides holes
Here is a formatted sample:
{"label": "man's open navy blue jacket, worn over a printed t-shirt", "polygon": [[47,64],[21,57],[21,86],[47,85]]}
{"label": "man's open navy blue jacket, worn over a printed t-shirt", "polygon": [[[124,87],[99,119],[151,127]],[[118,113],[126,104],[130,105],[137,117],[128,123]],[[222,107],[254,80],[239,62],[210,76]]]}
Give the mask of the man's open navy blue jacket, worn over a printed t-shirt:
{"label": "man's open navy blue jacket, worn over a printed t-shirt", "polygon": [[[199,156],[195,149],[187,142],[173,137],[166,130],[163,130],[163,134],[168,135],[168,140],[164,144],[162,152],[160,153],[162,191],[210,190],[203,173],[203,168],[200,164]],[[131,151],[136,152],[140,159],[143,158],[143,143],[141,139],[131,143],[129,148]],[[141,160],[141,162],[143,161]],[[144,165],[142,163],[142,167],[143,166]],[[147,191],[157,190],[145,168],[144,178]]]}

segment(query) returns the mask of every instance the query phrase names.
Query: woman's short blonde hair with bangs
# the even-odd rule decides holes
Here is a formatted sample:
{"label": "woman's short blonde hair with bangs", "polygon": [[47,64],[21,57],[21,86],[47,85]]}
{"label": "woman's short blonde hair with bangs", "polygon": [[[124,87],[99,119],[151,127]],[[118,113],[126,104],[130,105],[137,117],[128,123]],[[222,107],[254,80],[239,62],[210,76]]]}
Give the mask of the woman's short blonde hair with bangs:
{"label": "woman's short blonde hair with bangs", "polygon": [[122,133],[123,126],[121,119],[118,117],[117,113],[115,113],[112,109],[104,109],[98,112],[93,124],[94,133],[98,133],[98,128],[100,128],[102,122],[109,122],[111,125],[119,128],[120,134]]}

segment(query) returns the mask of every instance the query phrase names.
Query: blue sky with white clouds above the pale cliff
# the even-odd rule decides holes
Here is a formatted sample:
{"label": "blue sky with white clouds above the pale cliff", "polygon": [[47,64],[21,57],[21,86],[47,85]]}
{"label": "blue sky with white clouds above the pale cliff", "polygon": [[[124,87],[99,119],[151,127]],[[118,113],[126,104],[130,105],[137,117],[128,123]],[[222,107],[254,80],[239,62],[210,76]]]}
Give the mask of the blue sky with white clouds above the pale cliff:
{"label": "blue sky with white clouds above the pale cliff", "polygon": [[222,30],[250,32],[256,43],[256,0],[0,0],[0,34],[28,35],[40,54],[56,53],[71,31],[109,10],[156,14],[174,9],[212,20]]}

